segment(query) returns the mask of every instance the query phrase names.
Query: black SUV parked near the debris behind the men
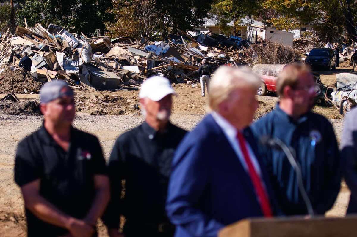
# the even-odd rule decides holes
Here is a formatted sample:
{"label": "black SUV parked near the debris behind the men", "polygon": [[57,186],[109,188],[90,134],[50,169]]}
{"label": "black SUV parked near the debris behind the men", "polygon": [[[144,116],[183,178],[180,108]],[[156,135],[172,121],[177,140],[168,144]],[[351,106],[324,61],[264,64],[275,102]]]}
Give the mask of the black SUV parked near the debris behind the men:
{"label": "black SUV parked near the debris behind the men", "polygon": [[327,71],[330,71],[331,67],[336,69],[336,56],[332,48],[313,48],[305,56],[307,56],[305,63],[310,64],[311,67],[322,66]]}

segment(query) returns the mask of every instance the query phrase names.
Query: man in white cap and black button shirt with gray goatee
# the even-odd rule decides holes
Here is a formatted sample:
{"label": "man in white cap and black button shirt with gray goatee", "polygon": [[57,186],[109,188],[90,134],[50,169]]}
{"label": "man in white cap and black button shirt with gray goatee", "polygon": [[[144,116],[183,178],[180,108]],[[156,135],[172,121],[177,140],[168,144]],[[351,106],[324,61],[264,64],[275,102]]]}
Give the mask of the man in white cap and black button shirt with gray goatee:
{"label": "man in white cap and black button shirt with gray goatee", "polygon": [[145,122],[114,144],[109,159],[112,199],[103,216],[111,237],[122,236],[121,215],[126,237],[174,235],[175,226],[165,214],[166,191],[174,151],[186,133],[169,121],[174,94],[166,78],[144,81],[139,98]]}

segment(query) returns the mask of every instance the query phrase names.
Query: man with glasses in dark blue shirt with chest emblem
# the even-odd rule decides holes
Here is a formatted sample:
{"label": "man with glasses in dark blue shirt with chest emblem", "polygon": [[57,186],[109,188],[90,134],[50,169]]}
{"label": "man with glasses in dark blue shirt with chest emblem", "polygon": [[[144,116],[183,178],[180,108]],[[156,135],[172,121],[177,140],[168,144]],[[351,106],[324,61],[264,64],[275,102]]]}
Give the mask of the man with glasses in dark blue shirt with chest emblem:
{"label": "man with glasses in dark blue shirt with chest emblem", "polygon": [[[303,64],[286,66],[278,75],[277,92],[280,102],[252,125],[253,134],[257,141],[268,135],[295,149],[312,208],[324,214],[340,190],[341,165],[331,123],[310,111],[315,99],[310,69]],[[282,211],[286,215],[307,214],[297,176],[286,155],[272,148],[259,149]]]}

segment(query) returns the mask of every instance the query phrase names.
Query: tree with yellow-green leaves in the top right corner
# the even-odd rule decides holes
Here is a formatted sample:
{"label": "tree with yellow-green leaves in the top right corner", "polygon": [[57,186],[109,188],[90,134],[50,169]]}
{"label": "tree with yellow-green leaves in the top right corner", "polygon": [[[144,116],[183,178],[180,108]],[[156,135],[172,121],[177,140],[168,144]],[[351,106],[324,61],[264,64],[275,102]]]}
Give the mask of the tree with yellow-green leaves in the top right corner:
{"label": "tree with yellow-green leaves in the top right corner", "polygon": [[[356,41],[357,4],[350,0],[266,0],[263,8],[270,11],[267,23],[290,30],[301,25],[315,25],[319,38]],[[345,35],[343,35],[343,31]]]}

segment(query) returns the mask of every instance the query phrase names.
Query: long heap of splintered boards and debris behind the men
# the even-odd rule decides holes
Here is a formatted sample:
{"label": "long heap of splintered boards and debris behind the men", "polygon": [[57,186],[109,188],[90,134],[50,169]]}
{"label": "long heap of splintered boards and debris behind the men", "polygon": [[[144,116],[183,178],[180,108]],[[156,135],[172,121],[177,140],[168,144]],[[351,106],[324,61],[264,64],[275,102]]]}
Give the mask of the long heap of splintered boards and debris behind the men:
{"label": "long heap of splintered boards and debris behind the men", "polygon": [[[56,79],[82,90],[137,90],[151,75],[177,83],[196,81],[203,58],[213,69],[221,64],[246,64],[243,51],[250,45],[241,38],[203,34],[193,38],[183,31],[182,36],[151,42],[145,38],[89,38],[54,24],[47,28],[39,23],[34,28],[17,26],[16,35],[7,31],[0,38],[0,94],[38,93],[41,83]],[[32,60],[28,74],[18,66],[24,52]]]}

